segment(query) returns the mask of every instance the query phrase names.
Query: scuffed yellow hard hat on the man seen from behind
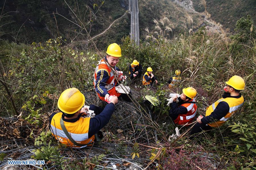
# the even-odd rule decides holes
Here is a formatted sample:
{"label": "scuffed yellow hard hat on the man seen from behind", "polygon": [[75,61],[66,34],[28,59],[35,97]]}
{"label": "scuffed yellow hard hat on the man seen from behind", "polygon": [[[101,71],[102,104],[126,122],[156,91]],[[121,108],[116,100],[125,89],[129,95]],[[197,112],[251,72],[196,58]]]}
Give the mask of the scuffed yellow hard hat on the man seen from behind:
{"label": "scuffed yellow hard hat on the man seen from behind", "polygon": [[73,114],[80,110],[85,103],[85,96],[76,88],[62,92],[58,100],[58,108],[66,113]]}

